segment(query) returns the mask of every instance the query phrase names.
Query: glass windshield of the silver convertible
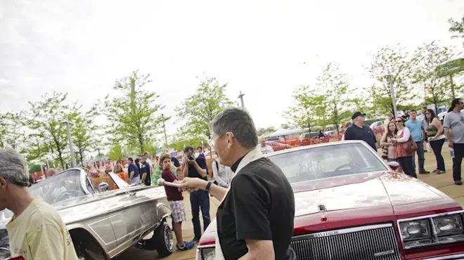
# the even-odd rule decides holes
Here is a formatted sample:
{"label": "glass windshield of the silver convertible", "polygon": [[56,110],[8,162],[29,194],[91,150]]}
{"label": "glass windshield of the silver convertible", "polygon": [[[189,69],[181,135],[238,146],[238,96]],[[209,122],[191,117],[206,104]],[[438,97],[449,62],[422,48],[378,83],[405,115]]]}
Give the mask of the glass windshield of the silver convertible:
{"label": "glass windshield of the silver convertible", "polygon": [[81,171],[72,169],[34,184],[29,188],[32,196],[41,197],[44,202],[54,204],[70,197],[84,195],[81,185]]}

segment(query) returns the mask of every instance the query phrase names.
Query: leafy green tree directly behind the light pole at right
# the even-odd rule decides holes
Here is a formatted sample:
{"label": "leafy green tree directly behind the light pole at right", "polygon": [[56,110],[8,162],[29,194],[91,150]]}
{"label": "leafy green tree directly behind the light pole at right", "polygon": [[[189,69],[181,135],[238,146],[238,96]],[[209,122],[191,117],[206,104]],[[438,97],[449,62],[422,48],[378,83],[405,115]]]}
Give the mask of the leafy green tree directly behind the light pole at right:
{"label": "leafy green tree directly behind the light pole at right", "polygon": [[370,77],[377,81],[371,88],[370,96],[373,104],[377,105],[381,114],[393,113],[392,92],[389,86],[389,74],[392,75],[395,99],[397,103],[404,103],[413,96],[411,92],[411,60],[404,48],[397,45],[395,48],[384,47],[371,55],[372,63],[367,68]]}

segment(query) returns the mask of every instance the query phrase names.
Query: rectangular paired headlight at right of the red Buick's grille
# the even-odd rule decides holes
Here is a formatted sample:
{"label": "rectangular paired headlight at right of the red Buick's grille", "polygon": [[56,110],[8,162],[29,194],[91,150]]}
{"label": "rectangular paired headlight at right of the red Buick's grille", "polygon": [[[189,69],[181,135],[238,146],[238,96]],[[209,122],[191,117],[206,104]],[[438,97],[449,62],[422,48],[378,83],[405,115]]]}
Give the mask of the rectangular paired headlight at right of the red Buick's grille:
{"label": "rectangular paired headlight at right of the red Buick's grille", "polygon": [[400,220],[404,249],[464,241],[463,212]]}

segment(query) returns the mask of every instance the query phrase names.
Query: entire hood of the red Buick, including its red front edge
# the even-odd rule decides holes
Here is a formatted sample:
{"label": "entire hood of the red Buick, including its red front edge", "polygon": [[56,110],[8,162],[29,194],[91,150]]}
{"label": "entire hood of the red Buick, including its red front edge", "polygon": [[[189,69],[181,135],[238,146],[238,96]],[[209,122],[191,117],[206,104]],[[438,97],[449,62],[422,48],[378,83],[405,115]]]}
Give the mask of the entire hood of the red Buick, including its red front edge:
{"label": "entire hood of the red Buick, including its red front edge", "polygon": [[[295,235],[461,209],[441,191],[394,171],[292,183],[292,189]],[[327,220],[321,219],[320,204],[326,207]],[[214,244],[215,233],[214,219],[200,245]]]}

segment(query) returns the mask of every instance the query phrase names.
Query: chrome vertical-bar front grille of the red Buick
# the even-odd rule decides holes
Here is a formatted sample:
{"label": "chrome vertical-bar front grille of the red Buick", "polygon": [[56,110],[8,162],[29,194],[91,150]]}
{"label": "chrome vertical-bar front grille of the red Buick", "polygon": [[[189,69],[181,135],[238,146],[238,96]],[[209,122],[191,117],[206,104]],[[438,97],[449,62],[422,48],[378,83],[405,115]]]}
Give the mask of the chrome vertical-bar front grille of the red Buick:
{"label": "chrome vertical-bar front grille of the red Buick", "polygon": [[391,223],[299,235],[291,246],[298,260],[400,260]]}

